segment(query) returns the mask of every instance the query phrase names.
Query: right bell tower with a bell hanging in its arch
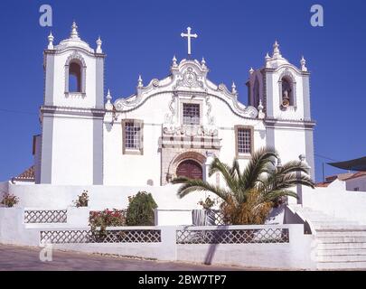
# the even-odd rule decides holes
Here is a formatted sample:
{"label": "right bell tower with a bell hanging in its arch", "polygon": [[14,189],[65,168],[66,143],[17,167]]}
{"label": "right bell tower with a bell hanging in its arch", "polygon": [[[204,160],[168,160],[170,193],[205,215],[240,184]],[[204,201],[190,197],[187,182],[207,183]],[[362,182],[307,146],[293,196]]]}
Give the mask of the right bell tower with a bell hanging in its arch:
{"label": "right bell tower with a bell hanging in its arch", "polygon": [[263,108],[266,113],[267,146],[275,147],[283,161],[305,155],[314,179],[315,123],[310,110],[310,73],[304,57],[297,68],[282,56],[275,42],[264,67],[249,70],[247,86],[249,105]]}

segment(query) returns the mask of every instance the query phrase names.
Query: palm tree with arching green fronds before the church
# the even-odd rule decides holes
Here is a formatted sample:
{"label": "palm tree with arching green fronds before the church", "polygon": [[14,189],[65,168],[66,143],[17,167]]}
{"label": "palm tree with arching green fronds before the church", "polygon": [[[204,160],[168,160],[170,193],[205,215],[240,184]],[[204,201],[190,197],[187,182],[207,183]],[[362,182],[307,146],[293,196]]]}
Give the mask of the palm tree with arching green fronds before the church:
{"label": "palm tree with arching green fronds before the church", "polygon": [[304,163],[292,161],[276,166],[277,159],[274,149],[262,148],[251,155],[248,165],[241,172],[236,159],[230,166],[215,157],[209,176],[220,172],[225,187],[186,177],[177,177],[173,183],[182,183],[177,192],[181,198],[192,191],[216,194],[222,200],[223,218],[230,224],[263,224],[269,210],[281,200],[297,197],[296,192],[290,190],[292,187],[302,184],[314,188]]}

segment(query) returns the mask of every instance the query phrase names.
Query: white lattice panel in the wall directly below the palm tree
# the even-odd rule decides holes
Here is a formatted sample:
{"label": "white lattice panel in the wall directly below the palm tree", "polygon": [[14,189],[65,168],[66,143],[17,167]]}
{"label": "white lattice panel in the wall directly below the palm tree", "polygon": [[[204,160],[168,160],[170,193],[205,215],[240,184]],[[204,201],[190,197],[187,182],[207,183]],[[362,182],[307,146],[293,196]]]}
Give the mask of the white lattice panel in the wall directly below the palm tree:
{"label": "white lattice panel in the wall directly below the palm tree", "polygon": [[288,228],[177,230],[177,244],[288,243]]}

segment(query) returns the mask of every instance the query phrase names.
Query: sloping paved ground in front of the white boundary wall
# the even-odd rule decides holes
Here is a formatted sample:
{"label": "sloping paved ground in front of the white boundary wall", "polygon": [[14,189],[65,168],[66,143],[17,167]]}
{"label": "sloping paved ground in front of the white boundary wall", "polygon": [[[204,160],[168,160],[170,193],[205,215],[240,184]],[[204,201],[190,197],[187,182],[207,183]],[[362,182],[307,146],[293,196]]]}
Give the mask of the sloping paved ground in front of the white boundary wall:
{"label": "sloping paved ground in front of the white boundary wall", "polygon": [[204,266],[177,262],[157,262],[53,250],[52,262],[40,261],[41,248],[0,245],[0,271],[82,270],[82,271],[211,271],[254,270],[233,266]]}

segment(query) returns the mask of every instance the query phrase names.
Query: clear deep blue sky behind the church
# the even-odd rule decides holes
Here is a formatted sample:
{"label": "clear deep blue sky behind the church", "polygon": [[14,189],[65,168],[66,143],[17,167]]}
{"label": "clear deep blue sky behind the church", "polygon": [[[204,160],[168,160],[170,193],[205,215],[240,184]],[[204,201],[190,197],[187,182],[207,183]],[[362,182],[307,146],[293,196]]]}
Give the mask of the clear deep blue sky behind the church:
{"label": "clear deep blue sky behind the church", "polygon": [[[53,27],[39,25],[39,7],[52,5]],[[324,6],[324,27],[310,25],[310,7]],[[80,36],[95,47],[100,35],[106,89],[113,97],[134,93],[139,73],[145,83],[164,78],[174,53],[185,57],[180,36],[188,25],[199,38],[193,56],[205,57],[210,79],[237,84],[247,103],[248,70],[263,65],[277,39],[282,54],[298,65],[302,54],[312,72],[315,154],[334,160],[366,155],[365,1],[1,1],[0,2],[0,180],[33,162],[32,136],[40,133],[43,98],[42,51],[52,30],[55,42],[69,36],[76,20]],[[323,158],[316,156],[322,179]],[[325,166],[325,174],[342,172]]]}

